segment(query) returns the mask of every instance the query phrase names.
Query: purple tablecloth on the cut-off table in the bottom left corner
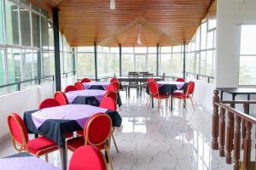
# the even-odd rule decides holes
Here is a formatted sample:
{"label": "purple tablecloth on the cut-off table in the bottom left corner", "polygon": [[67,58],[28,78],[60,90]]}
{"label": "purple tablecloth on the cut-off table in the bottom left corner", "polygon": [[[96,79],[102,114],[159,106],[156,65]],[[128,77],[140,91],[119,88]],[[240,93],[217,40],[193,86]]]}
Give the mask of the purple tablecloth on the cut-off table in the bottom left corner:
{"label": "purple tablecloth on the cut-off table in the bottom left corner", "polygon": [[39,159],[35,156],[11,157],[0,159],[0,169],[3,170],[60,170],[58,167]]}

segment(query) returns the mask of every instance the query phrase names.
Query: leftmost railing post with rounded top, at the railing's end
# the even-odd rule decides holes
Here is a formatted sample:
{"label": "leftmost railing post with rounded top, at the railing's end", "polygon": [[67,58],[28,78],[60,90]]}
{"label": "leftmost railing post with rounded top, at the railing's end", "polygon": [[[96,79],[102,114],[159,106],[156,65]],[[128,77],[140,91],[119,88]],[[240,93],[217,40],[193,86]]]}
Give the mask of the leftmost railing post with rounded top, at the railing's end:
{"label": "leftmost railing post with rounded top, at the railing's end", "polygon": [[218,97],[218,90],[214,90],[214,96],[212,99],[213,105],[213,114],[212,114],[212,150],[218,150],[218,123],[219,123],[219,116],[218,116],[218,105],[215,103],[219,102]]}

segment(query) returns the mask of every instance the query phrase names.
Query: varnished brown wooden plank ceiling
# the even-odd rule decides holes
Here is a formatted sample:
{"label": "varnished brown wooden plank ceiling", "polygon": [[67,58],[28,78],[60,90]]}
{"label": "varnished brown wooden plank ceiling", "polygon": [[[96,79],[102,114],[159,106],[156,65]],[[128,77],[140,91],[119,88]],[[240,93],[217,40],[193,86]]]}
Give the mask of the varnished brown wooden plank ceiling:
{"label": "varnished brown wooden plank ceiling", "polygon": [[211,0],[29,0],[50,11],[57,7],[59,27],[71,46],[179,45],[189,42]]}

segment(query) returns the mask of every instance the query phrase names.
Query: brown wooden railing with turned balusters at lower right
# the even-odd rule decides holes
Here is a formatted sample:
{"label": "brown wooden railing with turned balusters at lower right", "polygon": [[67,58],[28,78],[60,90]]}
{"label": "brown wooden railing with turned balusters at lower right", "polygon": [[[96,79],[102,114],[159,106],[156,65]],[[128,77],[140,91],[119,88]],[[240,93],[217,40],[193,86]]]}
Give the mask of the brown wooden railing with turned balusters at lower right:
{"label": "brown wooden railing with turned balusters at lower right", "polygon": [[[219,150],[219,156],[226,156],[226,163],[232,163],[231,152],[234,151],[234,169],[248,170],[251,159],[251,132],[256,118],[249,116],[249,106],[255,100],[220,101],[218,90],[214,90],[212,99],[212,150]],[[243,112],[235,109],[235,105],[243,105]],[[225,118],[228,118],[227,125]],[[241,152],[243,151],[243,152]],[[243,167],[240,167],[240,154],[243,153]],[[254,166],[255,167],[255,166]],[[255,169],[255,168],[254,168]]]}

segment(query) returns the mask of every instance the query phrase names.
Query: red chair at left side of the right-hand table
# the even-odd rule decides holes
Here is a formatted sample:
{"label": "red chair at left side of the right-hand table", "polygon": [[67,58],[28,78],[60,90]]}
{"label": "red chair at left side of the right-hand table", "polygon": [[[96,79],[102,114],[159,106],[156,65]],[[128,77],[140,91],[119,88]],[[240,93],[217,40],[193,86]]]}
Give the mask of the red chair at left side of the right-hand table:
{"label": "red chair at left side of the right-hand table", "polygon": [[[159,93],[159,87],[158,87],[158,84],[157,82],[149,82],[149,94],[150,94],[150,97],[153,97],[153,99],[157,99],[158,100],[158,111],[160,111],[160,105],[161,105],[161,100],[162,99],[166,99],[166,106],[168,104],[168,99],[169,99],[169,96],[168,94],[160,94]],[[150,102],[148,104],[148,109],[149,109],[149,106],[150,106]]]}

